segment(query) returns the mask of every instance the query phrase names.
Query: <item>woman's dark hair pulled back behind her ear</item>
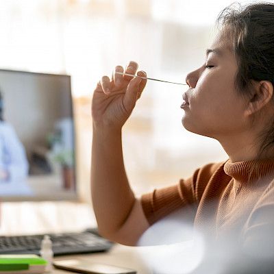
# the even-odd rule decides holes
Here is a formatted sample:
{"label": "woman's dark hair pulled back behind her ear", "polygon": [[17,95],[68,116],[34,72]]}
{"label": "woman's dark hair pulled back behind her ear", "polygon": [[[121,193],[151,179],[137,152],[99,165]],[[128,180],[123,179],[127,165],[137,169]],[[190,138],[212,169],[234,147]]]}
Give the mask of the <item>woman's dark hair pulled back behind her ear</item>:
{"label": "woman's dark hair pulled back behind her ear", "polygon": [[[238,62],[236,90],[250,98],[252,80],[267,80],[274,86],[274,3],[233,3],[219,14],[216,23],[232,40]],[[274,120],[259,138],[262,155],[274,145]]]}

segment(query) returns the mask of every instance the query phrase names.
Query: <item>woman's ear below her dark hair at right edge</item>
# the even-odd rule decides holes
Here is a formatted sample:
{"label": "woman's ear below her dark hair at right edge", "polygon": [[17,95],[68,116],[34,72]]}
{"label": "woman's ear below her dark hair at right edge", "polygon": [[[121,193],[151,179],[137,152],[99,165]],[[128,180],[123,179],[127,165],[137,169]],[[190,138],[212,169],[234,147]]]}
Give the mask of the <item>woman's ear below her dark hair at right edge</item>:
{"label": "woman's ear below her dark hair at right edge", "polygon": [[273,84],[269,81],[260,81],[253,84],[253,94],[247,105],[246,114],[250,116],[269,103],[273,96]]}

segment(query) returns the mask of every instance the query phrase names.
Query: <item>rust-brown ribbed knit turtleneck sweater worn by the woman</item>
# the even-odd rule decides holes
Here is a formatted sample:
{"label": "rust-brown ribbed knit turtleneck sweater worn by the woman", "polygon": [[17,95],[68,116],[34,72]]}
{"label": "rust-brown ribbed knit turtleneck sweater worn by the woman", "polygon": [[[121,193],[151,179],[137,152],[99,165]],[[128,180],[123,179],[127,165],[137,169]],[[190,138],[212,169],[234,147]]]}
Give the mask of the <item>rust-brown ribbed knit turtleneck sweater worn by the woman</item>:
{"label": "rust-brown ribbed knit turtleneck sweater worn by the woman", "polygon": [[[178,209],[214,238],[274,234],[274,160],[207,164],[179,184],[142,195],[150,225]],[[184,214],[182,214],[184,218]]]}

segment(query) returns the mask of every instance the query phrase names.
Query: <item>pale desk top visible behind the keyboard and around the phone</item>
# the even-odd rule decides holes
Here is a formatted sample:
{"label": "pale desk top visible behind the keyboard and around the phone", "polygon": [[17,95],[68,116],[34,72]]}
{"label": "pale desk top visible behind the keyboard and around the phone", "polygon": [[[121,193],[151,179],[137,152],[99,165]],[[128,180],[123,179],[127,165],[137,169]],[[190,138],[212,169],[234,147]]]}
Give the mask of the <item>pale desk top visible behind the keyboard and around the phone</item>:
{"label": "pale desk top visible behind the keyboard and around the phone", "polygon": [[[2,203],[0,206],[0,234],[6,236],[82,231],[86,227],[97,225],[90,204],[42,202]],[[126,247],[117,244],[108,252],[58,256],[54,260],[64,258],[84,258],[92,262],[124,266],[136,270],[138,274],[152,273],[142,260],[138,247]],[[52,273],[70,272],[53,269]]]}

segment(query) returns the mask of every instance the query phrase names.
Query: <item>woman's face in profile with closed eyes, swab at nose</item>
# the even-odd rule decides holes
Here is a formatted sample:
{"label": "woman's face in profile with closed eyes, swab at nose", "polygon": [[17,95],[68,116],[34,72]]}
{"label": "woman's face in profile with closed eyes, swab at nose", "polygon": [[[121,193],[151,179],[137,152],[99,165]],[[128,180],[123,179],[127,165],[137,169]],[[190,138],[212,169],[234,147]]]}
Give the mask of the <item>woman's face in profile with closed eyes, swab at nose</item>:
{"label": "woman's face in profile with closed eyes, swab at nose", "polygon": [[238,70],[232,45],[221,34],[207,51],[206,62],[186,77],[190,88],[183,98],[189,105],[182,124],[190,131],[219,140],[245,128],[245,99],[235,88]]}

